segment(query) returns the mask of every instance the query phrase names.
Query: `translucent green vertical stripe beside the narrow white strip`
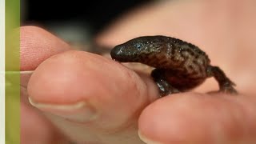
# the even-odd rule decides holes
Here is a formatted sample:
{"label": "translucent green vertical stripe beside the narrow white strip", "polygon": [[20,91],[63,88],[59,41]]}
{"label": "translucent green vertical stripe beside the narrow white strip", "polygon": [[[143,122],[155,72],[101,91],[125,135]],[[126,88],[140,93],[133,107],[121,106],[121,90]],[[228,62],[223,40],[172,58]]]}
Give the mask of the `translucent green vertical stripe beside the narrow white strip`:
{"label": "translucent green vertical stripe beside the narrow white strip", "polygon": [[20,143],[20,0],[6,0],[6,144]]}

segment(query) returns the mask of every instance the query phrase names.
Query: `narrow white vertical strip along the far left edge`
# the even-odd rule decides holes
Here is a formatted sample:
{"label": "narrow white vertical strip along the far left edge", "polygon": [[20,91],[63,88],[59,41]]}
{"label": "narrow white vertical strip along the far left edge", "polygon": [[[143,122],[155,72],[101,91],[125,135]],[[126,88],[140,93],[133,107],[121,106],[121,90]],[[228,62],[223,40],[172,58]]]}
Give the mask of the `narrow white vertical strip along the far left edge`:
{"label": "narrow white vertical strip along the far left edge", "polygon": [[0,143],[5,141],[5,0],[0,0]]}

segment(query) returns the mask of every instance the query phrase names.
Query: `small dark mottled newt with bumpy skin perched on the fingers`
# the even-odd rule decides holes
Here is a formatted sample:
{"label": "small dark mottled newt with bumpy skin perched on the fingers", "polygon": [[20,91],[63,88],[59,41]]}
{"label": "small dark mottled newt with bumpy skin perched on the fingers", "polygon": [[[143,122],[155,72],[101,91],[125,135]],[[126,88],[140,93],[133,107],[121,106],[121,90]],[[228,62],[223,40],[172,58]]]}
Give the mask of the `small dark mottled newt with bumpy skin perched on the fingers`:
{"label": "small dark mottled newt with bumpy skin perched on the fingers", "polygon": [[151,76],[161,96],[184,92],[214,77],[220,91],[237,94],[234,82],[218,66],[210,66],[210,59],[197,46],[177,38],[145,36],[115,46],[110,52],[118,62],[141,62],[153,66]]}

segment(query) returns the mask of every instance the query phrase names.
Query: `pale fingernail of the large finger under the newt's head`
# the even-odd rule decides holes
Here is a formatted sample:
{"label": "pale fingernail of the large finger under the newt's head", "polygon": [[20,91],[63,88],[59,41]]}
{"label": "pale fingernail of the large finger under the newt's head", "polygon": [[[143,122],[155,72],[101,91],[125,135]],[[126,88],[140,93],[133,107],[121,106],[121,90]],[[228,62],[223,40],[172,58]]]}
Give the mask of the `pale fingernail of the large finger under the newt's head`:
{"label": "pale fingernail of the large finger under the newt's head", "polygon": [[58,115],[72,122],[89,122],[97,117],[96,110],[86,102],[72,104],[49,104],[34,102],[29,98],[30,104],[46,113]]}

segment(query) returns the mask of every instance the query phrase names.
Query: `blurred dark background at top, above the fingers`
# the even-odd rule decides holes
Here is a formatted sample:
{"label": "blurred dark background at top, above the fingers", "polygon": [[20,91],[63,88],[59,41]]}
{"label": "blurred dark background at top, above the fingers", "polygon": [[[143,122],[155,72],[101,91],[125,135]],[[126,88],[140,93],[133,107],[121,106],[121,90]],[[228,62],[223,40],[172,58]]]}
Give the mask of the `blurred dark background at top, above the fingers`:
{"label": "blurred dark background at top, above the fingers", "polygon": [[66,41],[82,42],[98,34],[118,16],[152,1],[22,0],[22,26],[41,26]]}

